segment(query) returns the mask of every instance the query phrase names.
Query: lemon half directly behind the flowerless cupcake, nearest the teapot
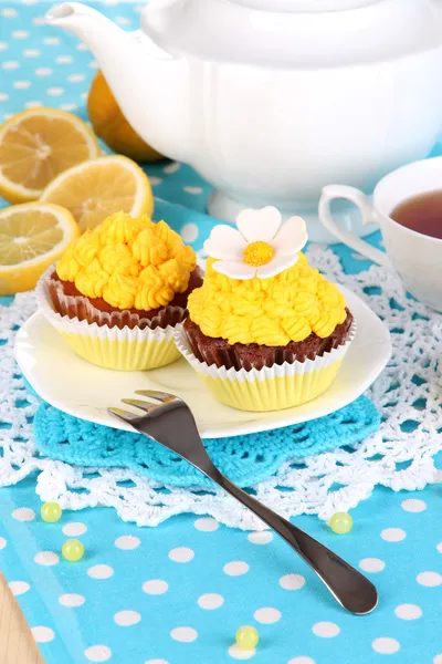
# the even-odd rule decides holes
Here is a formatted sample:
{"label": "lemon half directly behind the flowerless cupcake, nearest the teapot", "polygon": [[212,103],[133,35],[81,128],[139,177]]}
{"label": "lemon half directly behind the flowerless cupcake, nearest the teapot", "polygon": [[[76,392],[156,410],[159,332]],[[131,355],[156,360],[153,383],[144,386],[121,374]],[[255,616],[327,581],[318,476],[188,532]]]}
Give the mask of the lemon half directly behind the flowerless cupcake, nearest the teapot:
{"label": "lemon half directly behind the flowerless cupcake, nearest the teapot", "polygon": [[120,155],[65,170],[46,187],[41,200],[67,208],[82,232],[120,210],[134,217],[154,211],[149,178],[135,162]]}

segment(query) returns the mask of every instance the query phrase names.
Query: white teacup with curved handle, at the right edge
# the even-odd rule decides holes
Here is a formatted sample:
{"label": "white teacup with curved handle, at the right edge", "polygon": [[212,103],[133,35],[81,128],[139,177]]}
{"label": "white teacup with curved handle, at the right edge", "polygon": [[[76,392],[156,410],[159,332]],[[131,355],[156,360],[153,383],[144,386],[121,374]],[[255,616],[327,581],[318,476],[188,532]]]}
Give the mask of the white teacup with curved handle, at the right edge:
{"label": "white teacup with curved handle, at the right edge", "polygon": [[[442,311],[442,240],[406,228],[390,217],[407,198],[438,189],[442,189],[442,157],[414,162],[386,175],[375,187],[372,203],[359,189],[328,185],[319,201],[319,218],[340,241],[380,266],[393,268],[410,293]],[[364,224],[380,225],[387,253],[336,224],[329,208],[334,198],[357,205]]]}

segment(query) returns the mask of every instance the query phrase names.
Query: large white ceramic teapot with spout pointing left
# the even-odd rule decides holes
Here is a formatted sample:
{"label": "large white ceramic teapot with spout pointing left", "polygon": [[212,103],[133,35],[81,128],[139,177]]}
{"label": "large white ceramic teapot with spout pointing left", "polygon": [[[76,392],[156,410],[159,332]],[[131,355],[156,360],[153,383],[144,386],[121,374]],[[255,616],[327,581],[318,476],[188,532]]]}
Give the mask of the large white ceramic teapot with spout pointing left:
{"label": "large white ceramic teapot with spout pointing left", "polygon": [[222,219],[274,205],[327,240],[324,185],[370,193],[442,128],[441,0],[150,0],[131,33],[65,2],[46,21],[88,44],[145,141],[213,185]]}

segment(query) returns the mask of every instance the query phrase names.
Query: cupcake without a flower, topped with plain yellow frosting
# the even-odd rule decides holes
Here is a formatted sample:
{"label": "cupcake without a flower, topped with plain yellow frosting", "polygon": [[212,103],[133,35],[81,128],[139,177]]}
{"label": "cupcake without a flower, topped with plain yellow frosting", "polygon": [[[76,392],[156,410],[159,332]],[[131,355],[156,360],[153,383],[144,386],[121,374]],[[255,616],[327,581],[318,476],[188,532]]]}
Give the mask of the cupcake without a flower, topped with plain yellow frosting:
{"label": "cupcake without a flower, topped with plain yellow frosting", "polygon": [[40,307],[71,347],[107,369],[164,366],[202,278],[191,247],[165,221],[112,215],[86,231],[38,286]]}

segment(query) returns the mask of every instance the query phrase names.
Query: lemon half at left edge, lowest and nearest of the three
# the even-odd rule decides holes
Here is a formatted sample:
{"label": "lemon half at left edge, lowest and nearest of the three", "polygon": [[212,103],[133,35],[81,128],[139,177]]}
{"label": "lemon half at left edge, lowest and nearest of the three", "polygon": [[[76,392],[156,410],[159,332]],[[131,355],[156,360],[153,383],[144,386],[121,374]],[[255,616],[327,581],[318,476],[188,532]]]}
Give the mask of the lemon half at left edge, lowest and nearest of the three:
{"label": "lemon half at left edge, lowest and nearest of the three", "polygon": [[80,236],[69,210],[24,203],[0,210],[0,295],[31,290]]}

